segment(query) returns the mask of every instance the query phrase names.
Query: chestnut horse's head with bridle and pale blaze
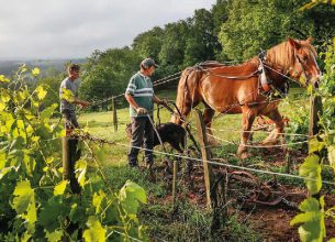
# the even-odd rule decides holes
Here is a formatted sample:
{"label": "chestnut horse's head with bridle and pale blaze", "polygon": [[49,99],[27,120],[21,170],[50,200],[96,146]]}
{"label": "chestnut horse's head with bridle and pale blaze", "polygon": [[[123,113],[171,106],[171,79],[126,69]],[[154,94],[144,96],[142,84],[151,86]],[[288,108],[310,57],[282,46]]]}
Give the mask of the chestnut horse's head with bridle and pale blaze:
{"label": "chestnut horse's head with bridle and pale blaze", "polygon": [[306,84],[312,84],[314,88],[319,87],[321,70],[316,63],[316,52],[312,46],[312,38],[306,41],[288,41],[292,52],[292,63],[289,68],[289,75],[299,80],[301,76],[305,78]]}

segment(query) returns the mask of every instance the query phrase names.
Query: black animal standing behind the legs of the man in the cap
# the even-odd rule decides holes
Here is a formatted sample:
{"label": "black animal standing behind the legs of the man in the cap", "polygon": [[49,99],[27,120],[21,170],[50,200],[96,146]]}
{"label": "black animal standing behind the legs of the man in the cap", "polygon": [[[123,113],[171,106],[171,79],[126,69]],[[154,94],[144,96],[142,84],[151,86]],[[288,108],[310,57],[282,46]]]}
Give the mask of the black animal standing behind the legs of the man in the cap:
{"label": "black animal standing behind the legs of the man in the cap", "polygon": [[[179,153],[182,153],[185,148],[185,139],[186,139],[186,131],[182,127],[168,122],[168,123],[163,123],[157,127],[157,131],[159,133],[159,136],[161,139],[161,142],[169,143],[172,148],[178,151]],[[130,139],[132,139],[132,125],[129,123],[126,125],[126,133]],[[159,145],[159,139],[155,133],[154,136],[154,146]]]}

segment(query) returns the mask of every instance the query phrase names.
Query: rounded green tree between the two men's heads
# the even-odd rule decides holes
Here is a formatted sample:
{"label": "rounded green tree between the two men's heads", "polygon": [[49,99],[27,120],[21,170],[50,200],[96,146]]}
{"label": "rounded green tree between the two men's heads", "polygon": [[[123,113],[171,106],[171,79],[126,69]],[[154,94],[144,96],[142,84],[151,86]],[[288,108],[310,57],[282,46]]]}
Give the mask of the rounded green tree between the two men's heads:
{"label": "rounded green tree between the two men's heads", "polygon": [[[101,100],[122,94],[131,76],[138,70],[141,61],[130,47],[93,52],[83,65],[80,97],[83,100]],[[107,108],[107,103],[103,107]]]}

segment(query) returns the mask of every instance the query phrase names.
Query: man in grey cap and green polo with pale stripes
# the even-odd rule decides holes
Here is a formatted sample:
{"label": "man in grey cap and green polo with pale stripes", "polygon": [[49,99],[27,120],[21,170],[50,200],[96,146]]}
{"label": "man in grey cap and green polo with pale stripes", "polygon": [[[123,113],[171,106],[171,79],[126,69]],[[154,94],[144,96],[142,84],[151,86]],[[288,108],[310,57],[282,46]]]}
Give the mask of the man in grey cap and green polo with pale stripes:
{"label": "man in grey cap and green polo with pale stripes", "polygon": [[150,76],[154,74],[156,67],[158,65],[152,58],[142,61],[139,65],[141,70],[130,79],[125,90],[124,96],[130,103],[132,119],[132,140],[129,152],[129,164],[131,167],[138,166],[137,155],[143,142],[146,148],[145,162],[147,167],[150,167],[154,162],[152,150],[155,131],[148,116],[153,119],[154,102],[158,105],[166,103],[166,100],[160,100],[154,94]]}

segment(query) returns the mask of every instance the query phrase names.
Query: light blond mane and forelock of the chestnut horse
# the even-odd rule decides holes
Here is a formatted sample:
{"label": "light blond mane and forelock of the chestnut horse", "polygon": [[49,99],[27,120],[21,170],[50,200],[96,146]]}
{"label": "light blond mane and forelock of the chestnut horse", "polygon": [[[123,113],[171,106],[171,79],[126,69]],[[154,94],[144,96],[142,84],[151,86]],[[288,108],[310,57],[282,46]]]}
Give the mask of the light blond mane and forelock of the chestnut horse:
{"label": "light blond mane and forelock of the chestnut horse", "polygon": [[[302,48],[308,48],[317,56],[315,48],[308,41],[297,41]],[[267,51],[267,61],[272,65],[289,69],[295,61],[294,48],[287,41]]]}

